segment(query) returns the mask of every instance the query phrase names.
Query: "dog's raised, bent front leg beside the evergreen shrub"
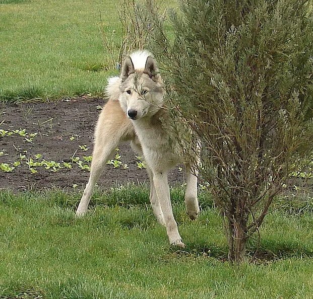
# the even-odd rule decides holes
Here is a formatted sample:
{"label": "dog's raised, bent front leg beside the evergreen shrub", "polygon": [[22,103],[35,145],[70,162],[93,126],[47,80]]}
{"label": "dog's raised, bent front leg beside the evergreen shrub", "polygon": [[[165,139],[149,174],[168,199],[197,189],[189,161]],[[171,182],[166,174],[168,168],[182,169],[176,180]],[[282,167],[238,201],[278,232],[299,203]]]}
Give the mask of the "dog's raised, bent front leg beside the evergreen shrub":
{"label": "dog's raised, bent front leg beside the evergreen shrub", "polygon": [[186,212],[192,220],[195,220],[200,212],[197,198],[198,170],[192,168],[189,164],[186,164],[185,168],[187,185],[185,192]]}

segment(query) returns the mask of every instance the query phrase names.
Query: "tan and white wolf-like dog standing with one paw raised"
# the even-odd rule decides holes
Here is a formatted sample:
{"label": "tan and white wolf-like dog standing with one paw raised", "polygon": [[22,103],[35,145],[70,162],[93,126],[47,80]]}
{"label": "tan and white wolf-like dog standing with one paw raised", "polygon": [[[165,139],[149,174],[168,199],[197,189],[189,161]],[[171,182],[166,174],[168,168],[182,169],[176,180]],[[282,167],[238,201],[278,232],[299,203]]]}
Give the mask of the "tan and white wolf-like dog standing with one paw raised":
{"label": "tan and white wolf-like dog standing with one paw raised", "polygon": [[186,168],[185,205],[187,214],[196,219],[197,170],[184,161],[163,129],[163,83],[155,59],[147,51],[127,57],[119,77],[108,80],[108,102],[104,105],[95,130],[91,173],[76,214],[87,211],[93,188],[105,165],[122,141],[143,156],[150,179],[150,202],[157,220],[165,225],[170,244],[184,247],[174,219],[167,173],[179,163]]}

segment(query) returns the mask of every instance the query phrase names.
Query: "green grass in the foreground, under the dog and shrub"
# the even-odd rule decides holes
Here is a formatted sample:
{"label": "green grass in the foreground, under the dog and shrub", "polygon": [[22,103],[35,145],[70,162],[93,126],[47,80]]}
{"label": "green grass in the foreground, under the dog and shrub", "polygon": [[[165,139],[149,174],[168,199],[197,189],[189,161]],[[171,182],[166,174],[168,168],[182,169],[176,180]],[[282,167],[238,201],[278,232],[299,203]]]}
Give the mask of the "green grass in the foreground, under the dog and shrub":
{"label": "green grass in the foreground, under the dog and shrub", "polygon": [[[173,210],[186,249],[176,251],[156,222],[146,187],[95,192],[74,216],[79,194],[0,193],[1,298],[311,298],[313,220],[278,210],[267,217],[261,251],[270,261],[230,265],[223,225],[200,195],[190,221],[183,193]],[[254,246],[251,245],[253,249]]]}

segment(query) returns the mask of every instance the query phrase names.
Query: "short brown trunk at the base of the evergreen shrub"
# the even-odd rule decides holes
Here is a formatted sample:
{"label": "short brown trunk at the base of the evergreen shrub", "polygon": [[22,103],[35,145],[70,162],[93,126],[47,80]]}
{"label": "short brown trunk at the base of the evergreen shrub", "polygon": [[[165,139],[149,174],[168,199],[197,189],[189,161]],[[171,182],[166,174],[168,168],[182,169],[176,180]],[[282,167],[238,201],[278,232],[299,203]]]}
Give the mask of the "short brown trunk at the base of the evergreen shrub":
{"label": "short brown trunk at the base of the evergreen shrub", "polygon": [[242,217],[228,216],[228,261],[242,263],[246,261],[245,244],[247,242],[246,220]]}

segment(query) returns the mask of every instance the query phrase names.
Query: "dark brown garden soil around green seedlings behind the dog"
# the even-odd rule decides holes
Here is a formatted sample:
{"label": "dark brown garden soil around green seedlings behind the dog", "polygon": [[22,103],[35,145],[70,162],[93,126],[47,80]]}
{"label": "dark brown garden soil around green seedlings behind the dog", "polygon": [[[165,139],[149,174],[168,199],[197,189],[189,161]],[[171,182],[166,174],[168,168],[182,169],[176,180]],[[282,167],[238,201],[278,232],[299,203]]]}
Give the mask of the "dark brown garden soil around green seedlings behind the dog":
{"label": "dark brown garden soil around green seedlings behind the dog", "polygon": [[[69,188],[73,185],[84,188],[88,181],[89,172],[83,171],[73,163],[73,169],[60,169],[56,172],[46,170],[43,166],[35,167],[37,173],[32,174],[26,165],[27,159],[34,161],[72,162],[71,158],[92,155],[93,131],[100,113],[99,106],[103,106],[105,100],[100,98],[75,98],[61,100],[52,103],[0,103],[0,129],[12,131],[26,129],[27,136],[13,134],[0,136],[0,165],[7,163],[10,166],[16,161],[22,165],[12,172],[0,170],[0,188],[13,191],[40,190],[42,188]],[[38,133],[32,142],[25,140],[30,133]],[[75,137],[74,140],[70,138]],[[82,151],[79,145],[86,144],[88,151]],[[139,169],[136,154],[129,144],[119,146],[120,160],[128,164],[128,169],[122,167],[114,169],[107,165],[99,179],[98,185],[103,188],[127,182],[148,182],[144,169]],[[27,151],[27,152],[26,152]],[[20,154],[25,155],[24,160]],[[35,159],[36,154],[42,157]],[[175,169],[169,175],[172,185],[181,184],[182,173]]]}

